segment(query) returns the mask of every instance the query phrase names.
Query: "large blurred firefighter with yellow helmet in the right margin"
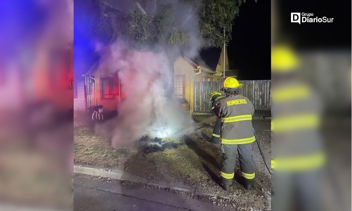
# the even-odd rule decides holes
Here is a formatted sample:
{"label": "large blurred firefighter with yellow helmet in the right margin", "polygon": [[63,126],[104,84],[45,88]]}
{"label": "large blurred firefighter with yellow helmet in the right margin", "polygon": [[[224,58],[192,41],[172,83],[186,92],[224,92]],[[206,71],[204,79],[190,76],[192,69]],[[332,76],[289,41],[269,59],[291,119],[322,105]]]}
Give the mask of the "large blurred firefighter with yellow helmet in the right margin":
{"label": "large blurred firefighter with yellow helmet in the right margin", "polygon": [[291,201],[302,211],[324,210],[321,103],[314,89],[300,80],[299,67],[299,58],[288,45],[272,48],[272,210],[291,210]]}

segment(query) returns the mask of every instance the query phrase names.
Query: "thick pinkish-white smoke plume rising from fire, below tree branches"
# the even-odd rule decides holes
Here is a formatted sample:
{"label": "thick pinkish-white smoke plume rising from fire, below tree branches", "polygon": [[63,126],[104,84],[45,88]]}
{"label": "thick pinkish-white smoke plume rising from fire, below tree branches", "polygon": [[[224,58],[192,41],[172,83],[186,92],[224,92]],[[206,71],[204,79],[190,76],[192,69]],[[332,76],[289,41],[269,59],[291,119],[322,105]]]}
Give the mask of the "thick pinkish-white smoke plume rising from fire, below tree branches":
{"label": "thick pinkish-white smoke plume rising from fire, below tree branches", "polygon": [[163,51],[136,51],[117,41],[102,51],[102,75],[118,75],[126,99],[118,106],[115,119],[96,125],[96,132],[109,134],[113,147],[131,145],[149,134],[170,137],[188,128],[193,131],[193,120],[182,110],[180,103],[166,91],[172,86],[172,72]]}

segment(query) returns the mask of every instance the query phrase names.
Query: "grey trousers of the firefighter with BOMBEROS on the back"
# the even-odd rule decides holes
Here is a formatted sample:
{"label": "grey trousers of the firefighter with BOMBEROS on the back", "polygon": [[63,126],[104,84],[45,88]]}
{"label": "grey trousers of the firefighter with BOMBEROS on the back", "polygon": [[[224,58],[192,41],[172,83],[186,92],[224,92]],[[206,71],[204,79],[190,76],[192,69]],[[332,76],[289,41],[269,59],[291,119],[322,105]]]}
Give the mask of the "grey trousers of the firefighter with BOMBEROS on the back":
{"label": "grey trousers of the firefighter with BOMBEROS on the back", "polygon": [[221,182],[224,185],[231,185],[236,167],[236,154],[240,162],[243,185],[254,184],[254,159],[253,159],[254,142],[249,144],[221,144],[222,165],[221,165]]}

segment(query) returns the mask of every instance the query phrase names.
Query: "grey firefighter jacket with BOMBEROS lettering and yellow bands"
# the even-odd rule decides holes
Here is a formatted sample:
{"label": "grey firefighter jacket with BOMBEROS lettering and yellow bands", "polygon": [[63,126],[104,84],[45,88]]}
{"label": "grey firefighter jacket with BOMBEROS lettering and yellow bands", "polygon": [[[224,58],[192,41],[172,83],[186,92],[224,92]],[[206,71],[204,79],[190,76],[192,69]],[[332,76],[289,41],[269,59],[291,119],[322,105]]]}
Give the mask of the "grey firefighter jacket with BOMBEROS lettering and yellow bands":
{"label": "grey firefighter jacket with BOMBEROS lettering and yellow bands", "polygon": [[242,95],[222,98],[214,107],[215,115],[221,118],[222,144],[248,144],[254,142],[252,102]]}

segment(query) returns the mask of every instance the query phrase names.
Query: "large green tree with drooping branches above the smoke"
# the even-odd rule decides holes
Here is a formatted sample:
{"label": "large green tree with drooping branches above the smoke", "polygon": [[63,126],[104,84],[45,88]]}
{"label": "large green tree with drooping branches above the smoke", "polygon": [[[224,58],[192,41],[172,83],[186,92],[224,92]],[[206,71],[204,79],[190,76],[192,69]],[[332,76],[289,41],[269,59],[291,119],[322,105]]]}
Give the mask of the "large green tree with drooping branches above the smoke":
{"label": "large green tree with drooping branches above the smoke", "polygon": [[100,10],[98,31],[104,32],[105,42],[122,37],[136,49],[161,47],[173,72],[175,60],[191,48],[221,47],[230,41],[233,20],[245,0],[163,2],[96,0]]}

